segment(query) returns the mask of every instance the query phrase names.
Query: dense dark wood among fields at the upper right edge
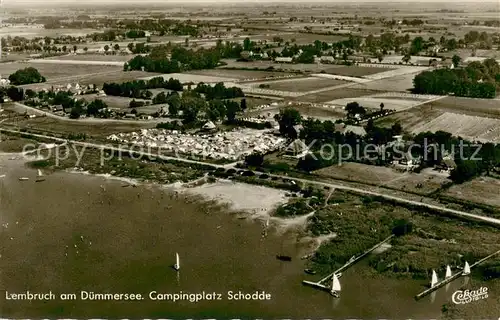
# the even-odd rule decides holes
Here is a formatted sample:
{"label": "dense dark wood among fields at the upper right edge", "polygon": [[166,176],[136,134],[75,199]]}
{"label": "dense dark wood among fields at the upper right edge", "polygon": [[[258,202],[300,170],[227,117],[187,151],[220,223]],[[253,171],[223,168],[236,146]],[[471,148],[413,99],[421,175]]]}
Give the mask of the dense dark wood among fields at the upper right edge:
{"label": "dense dark wood among fields at the upper right edge", "polygon": [[424,71],[413,79],[413,91],[421,94],[454,94],[460,97],[495,98],[500,67],[495,59],[472,62],[463,69]]}

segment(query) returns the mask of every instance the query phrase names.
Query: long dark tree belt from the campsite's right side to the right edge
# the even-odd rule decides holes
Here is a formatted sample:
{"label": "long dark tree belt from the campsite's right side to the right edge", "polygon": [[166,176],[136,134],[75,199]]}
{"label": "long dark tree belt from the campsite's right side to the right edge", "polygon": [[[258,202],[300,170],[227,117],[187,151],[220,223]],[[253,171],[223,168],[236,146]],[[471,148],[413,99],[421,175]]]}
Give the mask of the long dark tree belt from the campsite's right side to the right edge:
{"label": "long dark tree belt from the campsite's right side to the right edge", "polygon": [[[403,154],[410,153],[408,156],[422,160],[417,170],[439,166],[445,157],[451,157],[456,167],[451,171],[450,179],[455,183],[462,183],[485,173],[498,172],[500,166],[499,144],[479,143],[478,148],[473,142],[454,137],[451,133],[444,131],[424,132],[418,135],[406,134],[407,142],[412,141],[414,145],[420,146],[409,149],[409,143],[405,143],[404,146],[391,144],[394,136],[403,134],[403,128],[399,123],[385,128],[374,125],[370,120],[365,126],[367,134],[358,136],[352,132],[338,131],[332,121],[302,119],[300,113],[293,108],[281,110],[276,118],[280,124],[280,132],[290,141],[300,138],[311,147],[309,150],[311,154],[306,155],[297,163],[297,168],[306,172],[331,166],[337,163],[340,157],[345,159],[349,156],[349,154],[333,154],[331,158],[324,158],[320,155],[320,150],[325,144],[349,145],[352,150],[356,150],[357,147],[363,150],[368,144],[378,146],[378,150],[373,150],[369,154],[370,159],[350,155],[351,158],[346,161],[380,166],[388,165],[393,160],[401,160]],[[297,124],[302,125],[298,136],[293,130]],[[345,148],[339,150],[348,152]]]}

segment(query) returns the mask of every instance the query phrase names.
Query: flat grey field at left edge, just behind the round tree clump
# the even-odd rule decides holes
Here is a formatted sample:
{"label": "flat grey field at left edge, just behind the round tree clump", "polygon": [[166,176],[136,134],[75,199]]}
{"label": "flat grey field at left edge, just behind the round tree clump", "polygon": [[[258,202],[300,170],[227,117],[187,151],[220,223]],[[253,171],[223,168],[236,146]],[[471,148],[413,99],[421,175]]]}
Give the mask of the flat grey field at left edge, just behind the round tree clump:
{"label": "flat grey field at left edge, just behind the round tree clump", "polygon": [[10,75],[19,69],[33,67],[40,71],[47,81],[57,80],[63,77],[73,77],[86,74],[103,73],[109,71],[120,71],[123,68],[113,66],[90,66],[90,65],[64,65],[57,66],[52,63],[15,62],[2,64],[2,75]]}

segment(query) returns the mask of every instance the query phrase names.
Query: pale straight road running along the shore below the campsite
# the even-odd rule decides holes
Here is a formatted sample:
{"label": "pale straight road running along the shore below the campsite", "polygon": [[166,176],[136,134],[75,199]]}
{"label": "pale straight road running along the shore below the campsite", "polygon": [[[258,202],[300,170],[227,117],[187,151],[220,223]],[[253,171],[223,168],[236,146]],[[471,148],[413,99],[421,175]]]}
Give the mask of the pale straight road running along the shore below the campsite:
{"label": "pale straight road running along the shore below the campsite", "polygon": [[[17,133],[17,134],[22,133],[19,131],[8,130],[8,129],[3,129],[3,128],[0,128],[0,131],[6,131],[6,132],[11,132],[11,133]],[[44,138],[44,139],[52,139],[52,140],[60,141],[63,143],[70,142],[70,143],[77,145],[77,146],[83,146],[83,147],[89,147],[89,148],[97,148],[97,149],[115,151],[115,152],[129,152],[130,151],[130,149],[118,148],[118,147],[113,147],[113,146],[103,145],[103,144],[73,141],[73,140],[67,140],[67,139],[61,139],[61,138],[55,138],[55,137],[39,135],[39,134],[31,134],[31,133],[30,133],[30,135],[35,136],[35,137],[39,137],[39,138]],[[162,155],[157,155],[157,154],[148,153],[148,152],[134,151],[134,153],[136,153],[140,156],[143,156],[143,157],[157,157],[157,158],[162,159],[162,160],[181,161],[181,162],[185,162],[185,163],[198,164],[198,165],[211,165],[213,167],[223,168],[223,169],[235,168],[236,164],[238,163],[238,162],[235,162],[235,163],[230,163],[230,164],[226,164],[226,165],[218,165],[218,164],[209,164],[209,163],[202,162],[202,161],[196,161],[196,160],[190,160],[190,159],[184,159],[184,158],[162,156]],[[255,172],[255,173],[260,175],[260,174],[263,174],[264,172]],[[277,177],[280,179],[294,180],[294,181],[299,181],[299,182],[313,184],[313,185],[322,186],[322,187],[329,187],[329,188],[334,188],[334,189],[338,189],[338,190],[351,191],[351,192],[355,192],[355,193],[363,194],[363,195],[382,197],[384,199],[396,201],[399,203],[415,205],[415,206],[418,206],[421,208],[427,208],[427,209],[432,209],[432,210],[439,210],[441,212],[446,212],[446,213],[449,213],[449,214],[452,214],[452,215],[455,215],[458,217],[473,219],[476,221],[482,221],[482,222],[486,222],[489,224],[494,224],[494,225],[500,226],[499,219],[490,218],[490,217],[481,216],[481,215],[472,214],[472,213],[467,213],[464,211],[454,210],[454,209],[450,209],[450,208],[446,208],[446,207],[442,207],[442,206],[437,206],[437,205],[433,205],[433,204],[423,203],[420,201],[409,200],[409,199],[405,199],[402,197],[396,197],[396,196],[391,196],[388,194],[368,191],[365,189],[348,187],[348,186],[344,186],[344,185],[321,182],[321,181],[316,181],[316,180],[294,178],[294,177],[283,176],[283,175],[273,175],[273,174],[268,174],[268,175],[270,177]]]}

